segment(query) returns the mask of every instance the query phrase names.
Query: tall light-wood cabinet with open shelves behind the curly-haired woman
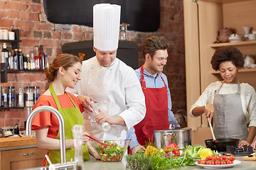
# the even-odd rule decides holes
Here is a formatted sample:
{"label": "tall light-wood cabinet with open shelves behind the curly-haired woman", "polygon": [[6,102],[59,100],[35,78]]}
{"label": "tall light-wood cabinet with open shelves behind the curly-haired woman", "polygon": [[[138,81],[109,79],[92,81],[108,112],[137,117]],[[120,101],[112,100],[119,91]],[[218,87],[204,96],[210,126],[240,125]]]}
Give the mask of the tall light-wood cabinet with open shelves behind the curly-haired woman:
{"label": "tall light-wood cabinet with open shelves behind the curly-haired woman", "polygon": [[[210,83],[221,79],[220,74],[213,72],[210,65],[211,57],[216,48],[225,45],[235,45],[241,50],[243,55],[256,56],[255,40],[213,44],[218,30],[223,28],[234,28],[238,35],[244,34],[243,26],[250,26],[252,30],[256,30],[256,1],[186,0],[183,1],[183,8],[186,51],[186,95],[187,109],[189,111],[206,87]],[[238,73],[240,82],[247,82],[256,89],[255,77],[256,69],[241,69]],[[206,137],[209,137],[208,121],[204,115],[198,118],[191,118],[188,115],[188,127],[195,131],[195,137],[200,137],[201,141],[204,141],[202,138],[206,139]],[[198,132],[200,130],[201,132]],[[201,135],[197,136],[197,132]]]}

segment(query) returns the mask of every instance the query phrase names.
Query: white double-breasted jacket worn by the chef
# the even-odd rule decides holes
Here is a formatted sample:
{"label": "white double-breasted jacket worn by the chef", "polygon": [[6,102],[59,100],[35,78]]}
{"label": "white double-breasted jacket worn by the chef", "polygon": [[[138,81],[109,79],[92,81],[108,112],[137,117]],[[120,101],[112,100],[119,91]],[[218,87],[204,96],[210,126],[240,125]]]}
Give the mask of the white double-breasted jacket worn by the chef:
{"label": "white double-breasted jacket worn by the chef", "polygon": [[102,67],[96,57],[82,62],[81,79],[75,89],[67,91],[94,98],[105,113],[124,119],[126,126],[112,125],[104,132],[99,125],[93,125],[85,111],[85,131],[99,139],[124,139],[127,131],[139,123],[146,114],[145,98],[132,67],[116,58],[110,67]]}

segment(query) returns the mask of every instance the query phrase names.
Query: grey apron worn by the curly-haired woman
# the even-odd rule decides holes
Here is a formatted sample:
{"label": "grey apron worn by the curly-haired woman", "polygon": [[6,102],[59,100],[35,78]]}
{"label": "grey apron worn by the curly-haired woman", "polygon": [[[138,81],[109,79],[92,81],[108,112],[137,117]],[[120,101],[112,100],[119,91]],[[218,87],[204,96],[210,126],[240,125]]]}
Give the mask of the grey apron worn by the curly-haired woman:
{"label": "grey apron worn by the curly-haired woman", "polygon": [[215,90],[213,99],[213,131],[215,137],[217,139],[234,138],[241,142],[247,139],[248,130],[245,114],[242,111],[239,81],[238,93],[235,94],[219,94],[222,86],[223,84]]}

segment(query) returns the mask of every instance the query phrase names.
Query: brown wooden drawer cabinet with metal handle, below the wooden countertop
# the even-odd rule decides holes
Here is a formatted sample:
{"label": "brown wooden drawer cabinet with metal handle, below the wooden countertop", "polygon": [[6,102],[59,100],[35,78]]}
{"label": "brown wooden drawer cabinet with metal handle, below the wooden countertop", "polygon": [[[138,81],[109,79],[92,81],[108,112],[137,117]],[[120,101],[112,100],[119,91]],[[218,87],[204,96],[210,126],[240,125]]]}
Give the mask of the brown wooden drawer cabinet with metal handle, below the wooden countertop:
{"label": "brown wooden drawer cabinet with metal handle, below the wooden countertop", "polygon": [[0,170],[28,169],[42,166],[46,149],[37,147],[0,152]]}

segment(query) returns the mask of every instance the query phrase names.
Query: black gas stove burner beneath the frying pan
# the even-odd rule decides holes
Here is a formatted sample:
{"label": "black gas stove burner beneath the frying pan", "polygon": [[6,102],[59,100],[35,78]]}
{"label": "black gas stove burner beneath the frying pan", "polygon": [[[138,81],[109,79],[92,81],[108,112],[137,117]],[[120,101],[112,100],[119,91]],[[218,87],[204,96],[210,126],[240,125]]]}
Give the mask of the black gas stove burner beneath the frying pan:
{"label": "black gas stove burner beneath the frying pan", "polygon": [[252,147],[248,147],[246,145],[242,146],[242,148],[234,147],[234,146],[227,146],[227,152],[224,152],[224,155],[230,156],[232,154],[235,157],[242,157],[252,154]]}

